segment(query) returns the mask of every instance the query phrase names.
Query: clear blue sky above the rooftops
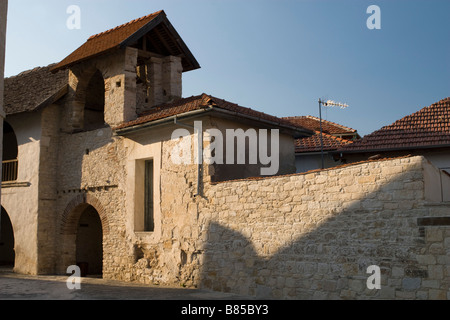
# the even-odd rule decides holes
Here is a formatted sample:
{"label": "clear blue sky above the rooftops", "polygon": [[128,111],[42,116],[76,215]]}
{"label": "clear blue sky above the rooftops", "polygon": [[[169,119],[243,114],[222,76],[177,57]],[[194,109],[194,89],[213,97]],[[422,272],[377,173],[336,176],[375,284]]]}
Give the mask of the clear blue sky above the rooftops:
{"label": "clear blue sky above the rooftops", "polygon": [[[69,5],[81,29],[69,30]],[[370,5],[381,29],[366,25]],[[208,93],[276,116],[318,116],[368,134],[450,96],[449,0],[10,0],[6,76],[59,62],[93,34],[163,9]]]}

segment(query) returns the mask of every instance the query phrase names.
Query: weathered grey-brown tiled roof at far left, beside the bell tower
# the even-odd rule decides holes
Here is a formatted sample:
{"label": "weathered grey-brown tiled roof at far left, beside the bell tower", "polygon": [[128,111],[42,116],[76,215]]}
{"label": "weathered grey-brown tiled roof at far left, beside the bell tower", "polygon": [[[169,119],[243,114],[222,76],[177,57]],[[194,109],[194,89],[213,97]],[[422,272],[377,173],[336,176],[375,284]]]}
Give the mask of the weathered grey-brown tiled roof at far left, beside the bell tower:
{"label": "weathered grey-brown tiled roof at far left, beside the bell tower", "polygon": [[68,71],[51,73],[53,66],[38,67],[5,79],[6,115],[34,111],[67,92]]}

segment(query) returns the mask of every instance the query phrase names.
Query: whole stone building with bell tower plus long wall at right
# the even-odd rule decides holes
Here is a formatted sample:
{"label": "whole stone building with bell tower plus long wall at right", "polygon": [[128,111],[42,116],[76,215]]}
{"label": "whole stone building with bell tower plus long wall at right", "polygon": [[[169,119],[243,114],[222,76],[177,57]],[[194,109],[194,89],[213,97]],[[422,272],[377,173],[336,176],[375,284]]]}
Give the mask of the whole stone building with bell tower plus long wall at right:
{"label": "whole stone building with bell tower plus long wall at right", "polygon": [[258,298],[450,298],[449,207],[430,162],[296,174],[295,139],[314,132],[182,98],[197,68],[161,11],[6,79],[1,259]]}

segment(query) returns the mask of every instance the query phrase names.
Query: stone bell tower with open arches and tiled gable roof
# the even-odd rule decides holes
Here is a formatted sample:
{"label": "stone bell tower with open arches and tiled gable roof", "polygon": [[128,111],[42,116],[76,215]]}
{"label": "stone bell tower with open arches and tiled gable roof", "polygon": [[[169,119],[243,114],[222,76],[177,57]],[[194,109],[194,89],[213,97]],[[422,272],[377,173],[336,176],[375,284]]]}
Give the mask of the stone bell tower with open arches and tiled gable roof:
{"label": "stone bell tower with open arches and tiled gable roof", "polygon": [[182,74],[200,68],[164,11],[91,36],[53,67],[69,69],[68,130],[115,127],[182,97]]}

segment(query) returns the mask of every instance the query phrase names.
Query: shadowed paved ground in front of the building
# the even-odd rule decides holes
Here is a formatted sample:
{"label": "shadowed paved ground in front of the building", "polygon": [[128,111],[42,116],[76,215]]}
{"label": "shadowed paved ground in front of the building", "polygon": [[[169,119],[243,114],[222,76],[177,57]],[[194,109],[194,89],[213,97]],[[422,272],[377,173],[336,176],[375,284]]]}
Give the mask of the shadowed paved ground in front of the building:
{"label": "shadowed paved ground in front of the building", "polygon": [[0,300],[248,300],[198,289],[149,286],[81,278],[80,290],[67,288],[66,276],[25,276],[0,269]]}

